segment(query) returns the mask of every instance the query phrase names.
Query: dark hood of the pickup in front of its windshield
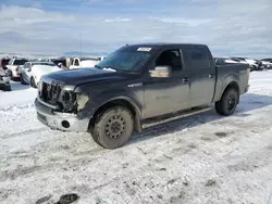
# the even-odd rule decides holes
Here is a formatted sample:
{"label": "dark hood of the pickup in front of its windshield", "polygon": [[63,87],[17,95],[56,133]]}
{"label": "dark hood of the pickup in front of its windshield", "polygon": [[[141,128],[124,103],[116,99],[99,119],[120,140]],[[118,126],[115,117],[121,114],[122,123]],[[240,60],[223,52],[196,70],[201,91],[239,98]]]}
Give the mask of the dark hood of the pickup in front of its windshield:
{"label": "dark hood of the pickup in front of its windshield", "polygon": [[69,69],[45,75],[42,78],[44,81],[60,81],[69,86],[78,86],[82,84],[89,84],[95,81],[102,80],[116,80],[126,78],[127,74],[99,69],[99,68],[78,68],[78,69]]}

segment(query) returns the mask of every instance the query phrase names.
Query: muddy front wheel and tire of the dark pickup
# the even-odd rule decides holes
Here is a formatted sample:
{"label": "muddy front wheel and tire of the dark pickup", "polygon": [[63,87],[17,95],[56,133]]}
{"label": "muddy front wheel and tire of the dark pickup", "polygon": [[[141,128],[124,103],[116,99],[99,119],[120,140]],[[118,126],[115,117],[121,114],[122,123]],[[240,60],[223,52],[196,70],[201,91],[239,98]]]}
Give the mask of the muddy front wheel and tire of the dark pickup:
{"label": "muddy front wheel and tire of the dark pickup", "polygon": [[133,127],[131,111],[124,106],[114,106],[98,116],[91,137],[97,144],[106,149],[116,149],[128,142]]}

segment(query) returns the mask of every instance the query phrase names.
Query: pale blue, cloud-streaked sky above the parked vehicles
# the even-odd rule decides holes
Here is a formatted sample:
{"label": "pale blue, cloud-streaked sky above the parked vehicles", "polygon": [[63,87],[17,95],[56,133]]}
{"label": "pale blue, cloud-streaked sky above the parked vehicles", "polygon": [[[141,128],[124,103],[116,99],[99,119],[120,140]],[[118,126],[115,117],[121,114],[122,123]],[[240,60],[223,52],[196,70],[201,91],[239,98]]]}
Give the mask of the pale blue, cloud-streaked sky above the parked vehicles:
{"label": "pale blue, cloud-streaked sky above the parked vehicles", "polygon": [[214,55],[272,56],[272,0],[0,0],[0,52],[110,52],[199,42]]}

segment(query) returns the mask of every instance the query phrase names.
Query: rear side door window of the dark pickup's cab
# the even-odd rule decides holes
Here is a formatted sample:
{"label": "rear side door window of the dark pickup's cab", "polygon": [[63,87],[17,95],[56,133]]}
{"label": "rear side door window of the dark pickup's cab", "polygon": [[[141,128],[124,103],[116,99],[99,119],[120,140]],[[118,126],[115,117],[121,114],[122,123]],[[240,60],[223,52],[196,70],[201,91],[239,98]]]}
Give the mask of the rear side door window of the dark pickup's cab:
{"label": "rear side door window of the dark pickup's cab", "polygon": [[190,68],[200,69],[200,68],[210,68],[210,59],[205,47],[191,47],[185,50],[185,62],[190,65]]}

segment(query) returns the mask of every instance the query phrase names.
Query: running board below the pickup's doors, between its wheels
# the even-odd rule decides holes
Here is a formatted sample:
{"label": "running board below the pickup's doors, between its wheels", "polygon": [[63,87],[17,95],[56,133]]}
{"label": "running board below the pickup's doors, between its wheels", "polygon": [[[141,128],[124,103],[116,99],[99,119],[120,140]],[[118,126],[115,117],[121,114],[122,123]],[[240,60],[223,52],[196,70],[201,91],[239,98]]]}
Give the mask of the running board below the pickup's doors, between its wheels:
{"label": "running board below the pickup's doors, between its wheels", "polygon": [[160,117],[156,117],[153,119],[146,119],[143,122],[143,128],[149,128],[149,127],[153,127],[153,126],[158,126],[161,124],[165,124],[169,122],[174,122],[184,117],[188,117],[191,115],[196,115],[196,114],[200,114],[203,112],[208,112],[211,111],[212,107],[211,106],[201,106],[201,107],[194,107],[187,111],[183,111],[183,112],[178,112],[178,113],[174,113],[174,114],[169,114],[165,116],[160,116]]}

